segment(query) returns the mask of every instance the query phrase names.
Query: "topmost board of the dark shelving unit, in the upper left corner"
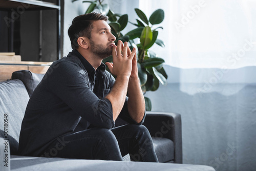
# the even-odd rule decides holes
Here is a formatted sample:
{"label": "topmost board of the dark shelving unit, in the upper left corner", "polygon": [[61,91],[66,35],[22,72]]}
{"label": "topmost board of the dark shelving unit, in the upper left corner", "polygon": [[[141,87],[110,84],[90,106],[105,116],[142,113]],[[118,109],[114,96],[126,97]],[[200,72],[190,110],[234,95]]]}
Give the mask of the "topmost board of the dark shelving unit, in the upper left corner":
{"label": "topmost board of the dark shelving unit, in the upper left corner", "polygon": [[0,10],[10,10],[23,7],[26,10],[60,9],[60,6],[37,0],[0,0]]}

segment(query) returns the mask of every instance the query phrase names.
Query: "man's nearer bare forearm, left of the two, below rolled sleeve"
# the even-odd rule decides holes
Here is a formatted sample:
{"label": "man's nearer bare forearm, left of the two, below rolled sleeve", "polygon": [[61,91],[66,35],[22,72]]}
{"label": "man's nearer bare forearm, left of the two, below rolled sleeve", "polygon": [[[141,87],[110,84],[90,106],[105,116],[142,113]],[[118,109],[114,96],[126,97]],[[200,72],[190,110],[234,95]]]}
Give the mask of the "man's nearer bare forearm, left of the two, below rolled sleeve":
{"label": "man's nearer bare forearm, left of the two, below rolled sleeve", "polygon": [[116,82],[111,89],[111,92],[106,95],[106,99],[109,99],[112,104],[113,120],[115,121],[120,114],[125,101],[129,77],[117,76]]}

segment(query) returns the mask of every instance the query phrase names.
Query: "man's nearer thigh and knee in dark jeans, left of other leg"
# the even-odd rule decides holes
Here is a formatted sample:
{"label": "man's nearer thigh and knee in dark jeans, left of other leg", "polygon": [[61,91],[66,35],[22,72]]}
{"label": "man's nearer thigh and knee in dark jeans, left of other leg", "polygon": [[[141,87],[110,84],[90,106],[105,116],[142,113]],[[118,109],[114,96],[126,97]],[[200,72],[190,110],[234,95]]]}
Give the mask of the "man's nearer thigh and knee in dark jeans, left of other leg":
{"label": "man's nearer thigh and knee in dark jeans, left of other leg", "polygon": [[114,134],[98,127],[57,138],[41,157],[122,161]]}

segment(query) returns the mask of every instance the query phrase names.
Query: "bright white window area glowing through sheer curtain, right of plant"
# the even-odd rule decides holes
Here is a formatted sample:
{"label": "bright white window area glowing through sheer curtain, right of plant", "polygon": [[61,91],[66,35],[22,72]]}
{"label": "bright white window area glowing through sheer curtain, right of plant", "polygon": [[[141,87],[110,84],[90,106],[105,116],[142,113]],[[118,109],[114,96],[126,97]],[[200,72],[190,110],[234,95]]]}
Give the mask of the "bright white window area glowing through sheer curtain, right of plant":
{"label": "bright white window area glowing through sheer curtain, right of plant", "polygon": [[166,64],[179,68],[241,68],[256,65],[256,1],[139,1],[147,16],[161,8],[164,30],[158,50]]}

